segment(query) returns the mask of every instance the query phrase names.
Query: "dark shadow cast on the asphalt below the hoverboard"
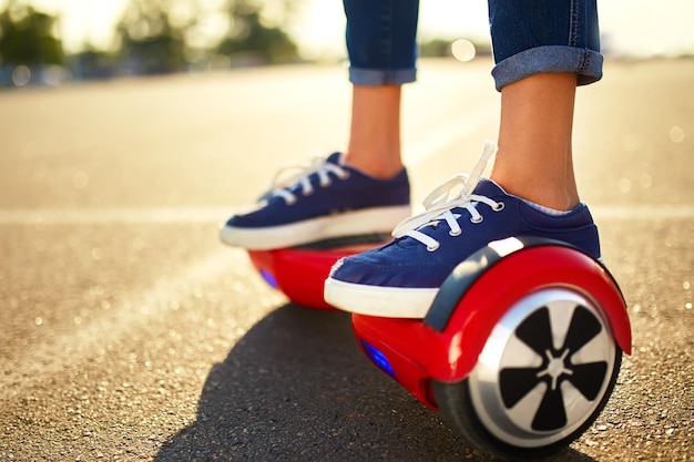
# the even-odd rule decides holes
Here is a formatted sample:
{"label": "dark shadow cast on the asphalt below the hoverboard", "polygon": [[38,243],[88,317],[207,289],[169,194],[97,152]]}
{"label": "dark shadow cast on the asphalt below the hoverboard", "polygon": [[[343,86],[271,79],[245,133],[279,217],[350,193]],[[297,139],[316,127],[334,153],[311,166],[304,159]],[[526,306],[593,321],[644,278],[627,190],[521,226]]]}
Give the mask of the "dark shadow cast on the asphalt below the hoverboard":
{"label": "dark shadow cast on the asphalt below the hoverboard", "polygon": [[[489,460],[361,356],[349,315],[286,305],[210,372],[157,461]],[[571,449],[552,460],[591,461]]]}

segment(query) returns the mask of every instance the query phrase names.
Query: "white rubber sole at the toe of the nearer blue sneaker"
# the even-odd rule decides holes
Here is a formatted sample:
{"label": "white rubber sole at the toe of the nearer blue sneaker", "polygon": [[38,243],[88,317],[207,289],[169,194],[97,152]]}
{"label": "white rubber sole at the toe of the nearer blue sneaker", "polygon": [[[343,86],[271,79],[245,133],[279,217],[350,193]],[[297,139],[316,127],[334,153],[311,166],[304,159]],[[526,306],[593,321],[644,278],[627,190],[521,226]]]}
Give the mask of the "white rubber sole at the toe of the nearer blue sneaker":
{"label": "white rubber sole at the toe of the nearer blue sneaker", "polygon": [[366,286],[328,278],[324,298],[335,308],[358,315],[422,319],[438,291],[438,288]]}

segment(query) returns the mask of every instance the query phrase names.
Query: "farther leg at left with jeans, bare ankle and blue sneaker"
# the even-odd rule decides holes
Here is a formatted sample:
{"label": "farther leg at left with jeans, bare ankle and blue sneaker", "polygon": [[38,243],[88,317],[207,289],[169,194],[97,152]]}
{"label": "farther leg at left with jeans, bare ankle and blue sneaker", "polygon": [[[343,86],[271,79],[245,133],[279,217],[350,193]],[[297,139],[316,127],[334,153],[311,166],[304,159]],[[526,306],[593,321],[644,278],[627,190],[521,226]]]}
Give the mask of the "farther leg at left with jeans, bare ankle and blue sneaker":
{"label": "farther leg at left with jeans, bare ankle and blue sneaker", "polygon": [[349,80],[348,150],[274,182],[220,230],[229,245],[264,250],[382,234],[409,216],[400,160],[400,85],[416,76],[418,0],[345,0]]}

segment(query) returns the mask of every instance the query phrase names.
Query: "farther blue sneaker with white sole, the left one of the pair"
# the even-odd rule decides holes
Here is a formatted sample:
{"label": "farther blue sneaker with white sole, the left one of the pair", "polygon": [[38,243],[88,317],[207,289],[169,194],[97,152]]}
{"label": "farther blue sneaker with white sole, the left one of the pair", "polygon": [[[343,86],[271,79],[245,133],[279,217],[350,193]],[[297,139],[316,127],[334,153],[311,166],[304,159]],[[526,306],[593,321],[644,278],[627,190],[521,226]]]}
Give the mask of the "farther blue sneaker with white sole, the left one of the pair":
{"label": "farther blue sneaker with white sole, the left one of the pair", "polygon": [[[282,172],[280,172],[282,173]],[[390,233],[410,215],[407,171],[378,179],[345,165],[343,155],[316,158],[255,206],[232,216],[220,238],[252,250],[293,247],[335,237]]]}

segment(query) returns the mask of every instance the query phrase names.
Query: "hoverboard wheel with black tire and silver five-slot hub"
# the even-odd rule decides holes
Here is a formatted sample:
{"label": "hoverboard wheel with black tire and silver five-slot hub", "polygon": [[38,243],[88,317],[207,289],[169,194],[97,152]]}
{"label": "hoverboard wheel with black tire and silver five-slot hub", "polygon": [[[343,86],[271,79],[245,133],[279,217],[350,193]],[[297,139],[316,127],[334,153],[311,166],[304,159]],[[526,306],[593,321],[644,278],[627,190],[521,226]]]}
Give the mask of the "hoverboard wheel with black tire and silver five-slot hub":
{"label": "hoverboard wheel with black tire and silver five-slot hub", "polygon": [[432,388],[443,415],[473,446],[533,458],[569,444],[595,421],[621,360],[599,307],[569,289],[542,289],[507,311],[465,380]]}

